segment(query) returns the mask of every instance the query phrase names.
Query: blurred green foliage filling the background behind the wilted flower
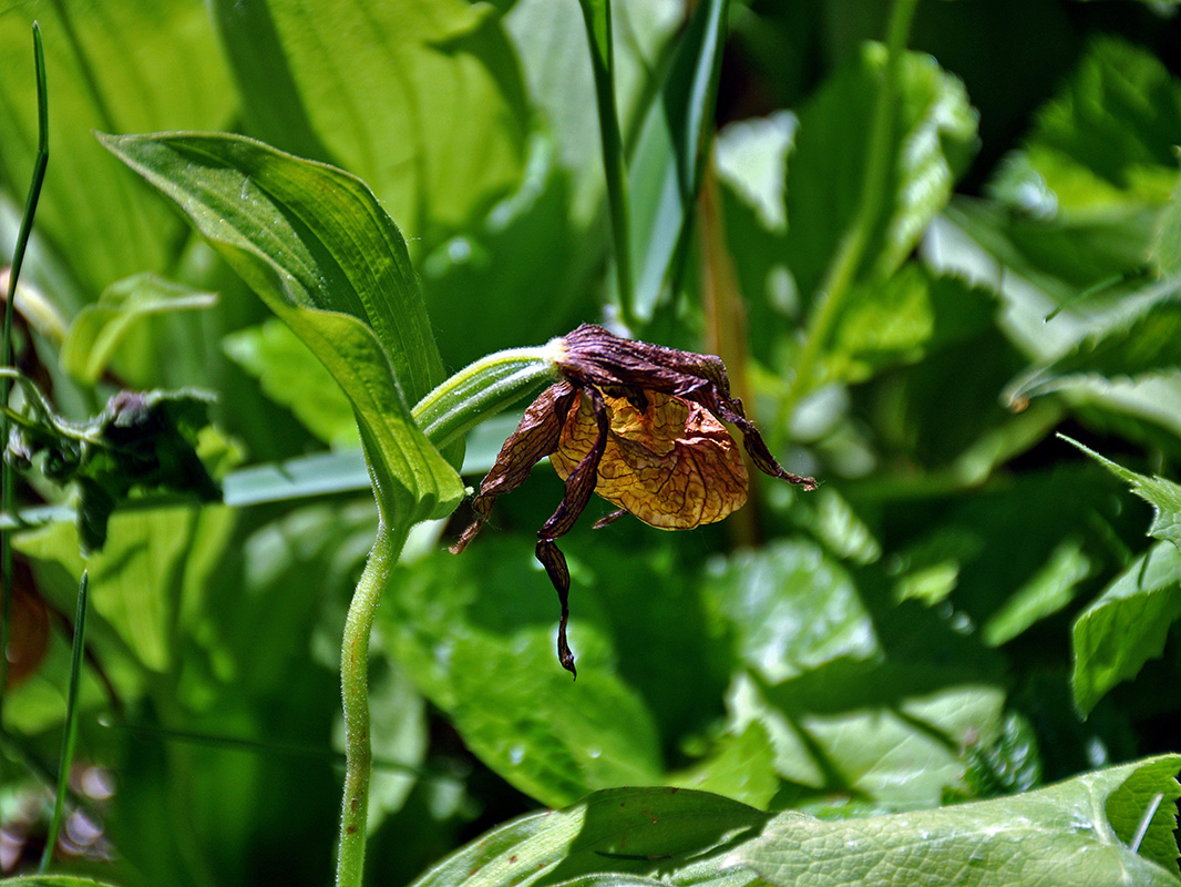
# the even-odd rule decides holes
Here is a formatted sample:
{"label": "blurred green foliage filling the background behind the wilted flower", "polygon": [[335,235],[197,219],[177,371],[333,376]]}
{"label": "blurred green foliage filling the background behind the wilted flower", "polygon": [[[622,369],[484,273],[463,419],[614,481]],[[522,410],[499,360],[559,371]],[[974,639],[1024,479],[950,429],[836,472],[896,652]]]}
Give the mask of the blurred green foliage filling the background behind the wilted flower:
{"label": "blurred green foliage filling the background behind the wilted flower", "polygon": [[[692,86],[715,64],[711,32],[687,26],[677,0],[613,8],[640,281],[628,307],[639,337],[720,354],[772,449],[823,486],[801,496],[761,478],[746,510],[692,533],[576,529],[565,546],[574,685],[533,561],[556,478],[541,468],[501,500],[462,557],[443,550],[454,526],[418,525],[374,639],[370,881],[407,882],[539,805],[637,785],[730,801],[639,794],[699,823],[653,820],[655,850],[644,850],[595,843],[615,796],[594,795],[561,818],[504,826],[426,880],[511,856],[547,882],[647,883],[658,867],[634,856],[686,848],[732,853],[745,876],[774,883],[810,883],[796,870],[809,866],[848,880],[866,876],[847,868],[849,840],[868,841],[880,859],[866,859],[889,873],[911,835],[1027,820],[1026,867],[1005,869],[1007,846],[984,846],[970,881],[1014,883],[1062,872],[1077,849],[1068,823],[1103,809],[1094,831],[1121,848],[1079,882],[1124,870],[1175,883],[1176,758],[1027,791],[1176,749],[1175,13],[920,4],[877,150],[888,63],[870,40],[887,33],[889,5],[700,4],[718,8],[729,35],[700,199],[683,188],[697,142],[677,115],[707,105]],[[220,442],[207,446],[222,472],[331,449],[319,486],[295,483],[286,501],[240,471],[226,505],[113,517],[87,561],[83,812],[64,868],[128,885],[322,883],[338,816],[337,649],[376,512],[353,408],[224,259],[273,286],[280,313],[315,306],[301,293],[332,268],[267,277],[247,247],[217,241],[226,220],[210,209],[215,251],[92,130],[240,131],[372,188],[405,235],[442,360],[423,343],[396,352],[405,365],[384,404],[402,436],[387,445],[420,447],[433,460],[422,483],[454,504],[454,474],[409,417],[441,368],[618,316],[581,12],[573,0],[9,6],[5,254],[35,147],[33,18],[52,161],[22,279],[50,307],[28,313],[21,367],[76,419],[116,383],[215,391]],[[136,143],[109,144],[126,155]],[[177,168],[224,161],[194,144],[152,143],[184,155],[169,160]],[[286,161],[241,145],[234,168],[260,194],[319,206],[311,188],[282,190]],[[856,226],[863,248],[842,265]],[[276,242],[307,237],[302,216],[292,231]],[[650,267],[661,255],[666,274]],[[357,349],[367,343],[355,334]],[[513,421],[471,436],[466,483]],[[57,493],[34,481],[22,496]],[[51,630],[6,693],[6,872],[44,835],[81,571],[70,524],[18,546]],[[1157,794],[1140,855],[1123,850]],[[732,847],[744,829],[762,837]],[[784,854],[785,834],[817,855]],[[602,853],[618,857],[609,878]],[[974,859],[954,842],[946,853]],[[707,874],[678,869],[686,882]]]}

